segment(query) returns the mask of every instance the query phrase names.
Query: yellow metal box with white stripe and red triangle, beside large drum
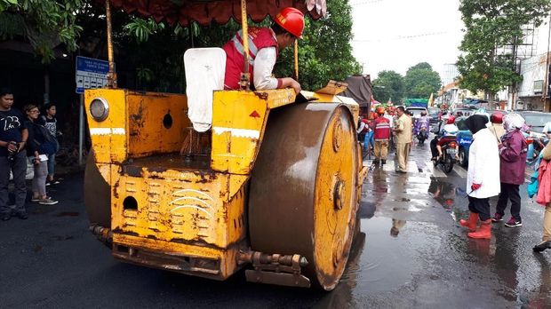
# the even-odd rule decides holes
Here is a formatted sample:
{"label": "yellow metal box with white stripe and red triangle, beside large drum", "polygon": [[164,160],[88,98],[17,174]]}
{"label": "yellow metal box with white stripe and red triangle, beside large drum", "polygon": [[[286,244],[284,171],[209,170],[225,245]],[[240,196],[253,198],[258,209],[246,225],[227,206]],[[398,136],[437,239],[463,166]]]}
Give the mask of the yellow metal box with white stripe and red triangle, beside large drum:
{"label": "yellow metal box with white stripe and red triangle, beside large drum", "polygon": [[275,91],[215,91],[212,102],[211,168],[249,175],[270,108],[295,100],[291,89]]}

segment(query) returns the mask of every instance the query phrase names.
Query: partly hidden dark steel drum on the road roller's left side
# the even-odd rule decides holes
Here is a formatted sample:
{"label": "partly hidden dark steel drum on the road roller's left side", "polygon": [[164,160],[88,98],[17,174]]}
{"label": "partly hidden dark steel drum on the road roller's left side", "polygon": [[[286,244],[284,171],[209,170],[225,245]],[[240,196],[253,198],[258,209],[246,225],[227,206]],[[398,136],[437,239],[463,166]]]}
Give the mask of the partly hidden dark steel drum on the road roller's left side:
{"label": "partly hidden dark steel drum on the road roller's left side", "polygon": [[90,224],[111,227],[111,186],[101,176],[93,150],[88,154],[84,170],[84,205]]}

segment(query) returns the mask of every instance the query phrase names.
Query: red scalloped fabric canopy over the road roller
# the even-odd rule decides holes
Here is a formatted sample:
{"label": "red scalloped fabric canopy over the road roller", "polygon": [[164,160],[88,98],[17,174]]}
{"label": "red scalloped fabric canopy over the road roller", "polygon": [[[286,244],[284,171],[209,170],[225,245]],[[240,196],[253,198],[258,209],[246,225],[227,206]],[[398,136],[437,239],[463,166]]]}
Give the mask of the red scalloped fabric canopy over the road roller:
{"label": "red scalloped fabric canopy over the road roller", "polygon": [[[98,0],[102,2],[101,0]],[[157,22],[166,20],[169,24],[178,21],[182,27],[195,20],[201,25],[212,21],[225,24],[230,18],[241,21],[239,0],[109,0],[116,8],[125,12],[138,12],[143,17],[153,17]],[[326,12],[325,0],[247,0],[247,12],[255,22],[272,18],[283,7],[292,6],[319,19]]]}

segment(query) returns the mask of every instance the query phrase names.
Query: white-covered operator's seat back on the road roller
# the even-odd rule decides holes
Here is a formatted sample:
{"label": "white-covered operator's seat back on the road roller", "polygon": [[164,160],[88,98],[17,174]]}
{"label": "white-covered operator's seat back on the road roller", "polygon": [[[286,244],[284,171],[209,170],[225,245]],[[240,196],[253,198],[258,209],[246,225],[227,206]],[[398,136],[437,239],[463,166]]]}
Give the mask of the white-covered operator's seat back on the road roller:
{"label": "white-covered operator's seat back on the road roller", "polygon": [[226,52],[217,47],[188,49],[184,65],[188,118],[195,131],[208,131],[212,126],[212,91],[224,89]]}

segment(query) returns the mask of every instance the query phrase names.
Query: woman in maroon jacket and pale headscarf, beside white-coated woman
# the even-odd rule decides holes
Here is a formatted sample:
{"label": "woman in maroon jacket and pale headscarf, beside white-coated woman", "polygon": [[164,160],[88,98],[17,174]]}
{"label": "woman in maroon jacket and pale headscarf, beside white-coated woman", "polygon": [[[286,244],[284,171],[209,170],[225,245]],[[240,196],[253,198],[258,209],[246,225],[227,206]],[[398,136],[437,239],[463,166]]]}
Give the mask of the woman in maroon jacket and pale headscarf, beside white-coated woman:
{"label": "woman in maroon jacket and pale headscarf, beside white-coated woman", "polygon": [[503,221],[507,202],[511,201],[511,218],[505,226],[523,226],[521,218],[521,195],[519,186],[524,183],[526,170],[526,154],[528,143],[524,139],[521,128],[524,118],[518,114],[509,114],[503,119],[503,126],[507,133],[501,137],[499,144],[499,179],[501,179],[501,193],[499,194],[496,213],[492,222]]}

